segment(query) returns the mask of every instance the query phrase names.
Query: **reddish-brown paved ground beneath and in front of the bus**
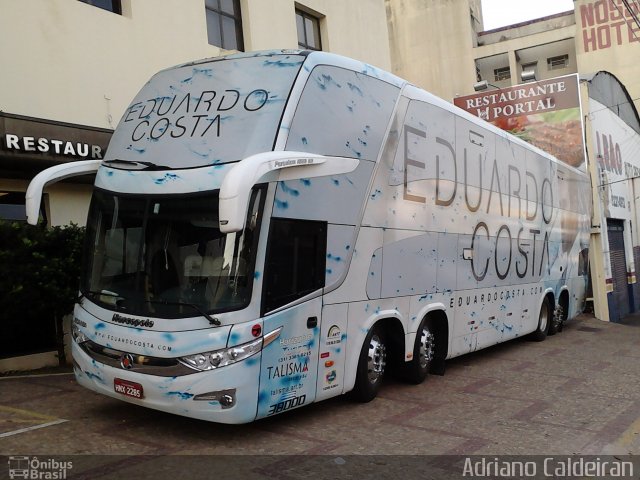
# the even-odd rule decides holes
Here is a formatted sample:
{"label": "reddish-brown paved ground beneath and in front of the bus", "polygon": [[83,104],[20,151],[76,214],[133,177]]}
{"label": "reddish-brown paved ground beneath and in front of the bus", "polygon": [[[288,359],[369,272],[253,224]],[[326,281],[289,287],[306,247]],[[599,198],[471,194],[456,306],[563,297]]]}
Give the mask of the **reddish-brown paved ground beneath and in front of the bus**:
{"label": "reddish-brown paved ground beneath and in front of the bus", "polygon": [[[74,475],[84,476],[68,478],[166,473],[172,458],[185,458],[165,457],[174,455],[226,458],[254,478],[294,478],[274,472],[290,466],[288,458],[313,455],[335,467],[365,454],[640,454],[637,323],[585,315],[544,342],[517,340],[449,361],[445,376],[422,385],[388,381],[369,404],[337,398],[239,426],[102,397],[71,374],[1,378],[0,455],[114,455],[73,457]],[[124,457],[132,454],[161,457]],[[252,460],[238,465],[224,455]],[[6,474],[0,464],[0,478]]]}

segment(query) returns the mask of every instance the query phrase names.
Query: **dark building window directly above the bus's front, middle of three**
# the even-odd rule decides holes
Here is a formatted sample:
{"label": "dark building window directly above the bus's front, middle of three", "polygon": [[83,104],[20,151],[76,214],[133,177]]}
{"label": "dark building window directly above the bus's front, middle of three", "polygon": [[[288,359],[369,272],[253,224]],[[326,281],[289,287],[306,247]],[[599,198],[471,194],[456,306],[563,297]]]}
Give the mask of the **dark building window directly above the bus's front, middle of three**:
{"label": "dark building window directly above the bus's front, middle of three", "polygon": [[244,50],[240,0],[205,0],[209,44],[225,50]]}

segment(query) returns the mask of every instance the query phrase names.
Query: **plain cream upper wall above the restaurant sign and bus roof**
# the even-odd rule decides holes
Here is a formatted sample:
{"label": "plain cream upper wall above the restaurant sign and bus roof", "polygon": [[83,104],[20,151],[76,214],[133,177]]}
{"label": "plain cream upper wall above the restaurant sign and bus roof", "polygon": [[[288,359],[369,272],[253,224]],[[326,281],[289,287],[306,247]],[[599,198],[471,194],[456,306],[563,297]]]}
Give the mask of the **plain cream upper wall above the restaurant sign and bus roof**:
{"label": "plain cream upper wall above the restaurant sign and bus roof", "polygon": [[[390,68],[384,0],[303,3],[325,15],[324,50]],[[294,5],[242,0],[245,50],[297,48]],[[0,108],[114,128],[153,73],[226,53],[208,44],[204,0],[122,0],[122,8],[3,0]]]}

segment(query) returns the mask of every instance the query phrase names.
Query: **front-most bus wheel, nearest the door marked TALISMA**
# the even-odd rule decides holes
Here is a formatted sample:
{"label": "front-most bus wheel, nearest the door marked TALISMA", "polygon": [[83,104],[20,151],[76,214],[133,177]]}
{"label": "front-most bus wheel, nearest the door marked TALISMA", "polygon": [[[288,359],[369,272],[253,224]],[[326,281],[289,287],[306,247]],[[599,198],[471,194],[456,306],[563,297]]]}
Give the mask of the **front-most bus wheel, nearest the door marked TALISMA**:
{"label": "front-most bus wheel, nearest the door marked TALISMA", "polygon": [[365,338],[356,373],[352,398],[358,402],[370,402],[380,390],[387,365],[387,345],[384,332],[374,325]]}

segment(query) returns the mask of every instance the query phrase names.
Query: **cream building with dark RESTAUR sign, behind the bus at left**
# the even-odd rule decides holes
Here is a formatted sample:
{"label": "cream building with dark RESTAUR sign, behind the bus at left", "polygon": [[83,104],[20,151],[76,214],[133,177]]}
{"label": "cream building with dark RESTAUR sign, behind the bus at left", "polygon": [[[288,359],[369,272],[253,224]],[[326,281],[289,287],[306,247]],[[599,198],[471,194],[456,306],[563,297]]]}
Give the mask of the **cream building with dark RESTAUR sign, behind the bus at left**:
{"label": "cream building with dark RESTAUR sign, behind the bus at left", "polygon": [[[235,51],[297,48],[389,70],[384,1],[3,1],[0,219],[25,220],[27,186],[43,169],[102,158],[125,108],[157,71]],[[92,183],[79,177],[47,187],[46,224],[83,225]],[[51,351],[31,355],[28,329],[46,321],[0,313],[0,371],[57,364],[53,338]]]}

